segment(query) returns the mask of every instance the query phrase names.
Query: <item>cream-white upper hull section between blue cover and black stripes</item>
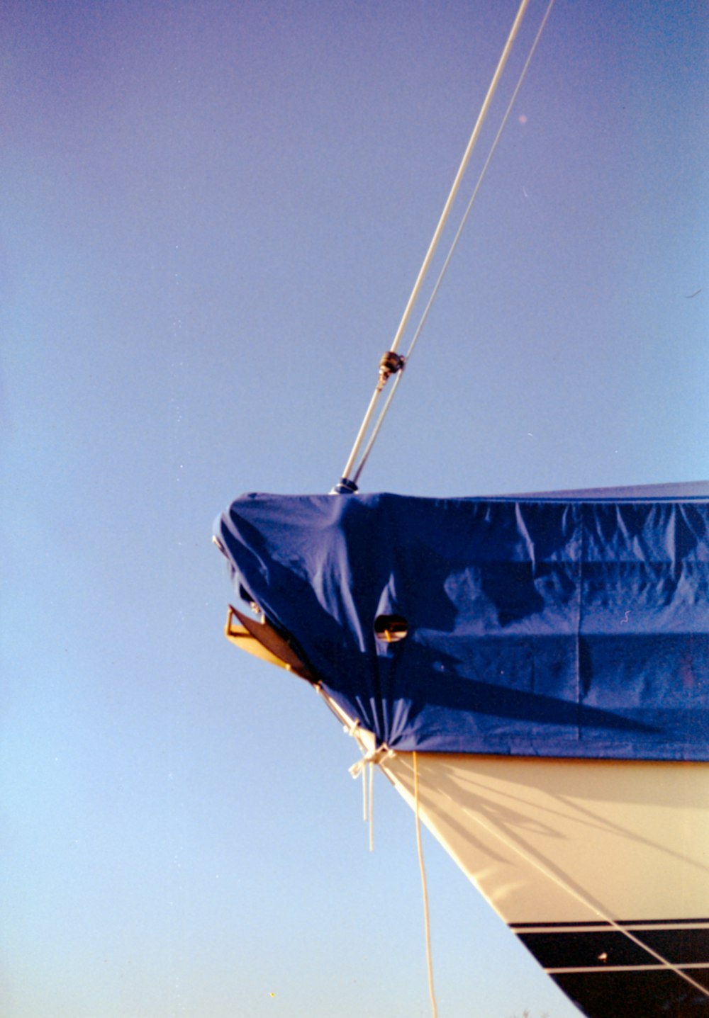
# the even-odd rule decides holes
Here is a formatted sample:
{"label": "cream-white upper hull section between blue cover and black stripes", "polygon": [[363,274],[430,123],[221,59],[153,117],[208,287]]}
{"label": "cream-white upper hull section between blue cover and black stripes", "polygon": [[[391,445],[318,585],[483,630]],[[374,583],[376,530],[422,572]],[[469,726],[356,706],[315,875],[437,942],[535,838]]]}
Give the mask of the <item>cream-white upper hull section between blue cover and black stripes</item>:
{"label": "cream-white upper hull section between blue cover and black stripes", "polygon": [[[413,806],[413,754],[381,768]],[[418,770],[423,822],[510,925],[709,916],[709,764],[419,753]]]}

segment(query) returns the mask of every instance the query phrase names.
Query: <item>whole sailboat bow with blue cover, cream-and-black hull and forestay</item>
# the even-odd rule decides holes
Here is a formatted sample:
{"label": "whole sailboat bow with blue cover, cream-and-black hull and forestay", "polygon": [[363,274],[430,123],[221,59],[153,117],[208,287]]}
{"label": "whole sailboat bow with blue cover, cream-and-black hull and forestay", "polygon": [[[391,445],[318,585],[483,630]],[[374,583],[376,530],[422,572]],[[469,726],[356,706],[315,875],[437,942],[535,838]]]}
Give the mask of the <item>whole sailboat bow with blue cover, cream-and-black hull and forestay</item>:
{"label": "whole sailboat bow with blue cover, cream-and-black hull and forestay", "polygon": [[361,494],[422,276],[335,490],[217,519],[226,635],[314,687],[589,1018],[709,1016],[709,483]]}

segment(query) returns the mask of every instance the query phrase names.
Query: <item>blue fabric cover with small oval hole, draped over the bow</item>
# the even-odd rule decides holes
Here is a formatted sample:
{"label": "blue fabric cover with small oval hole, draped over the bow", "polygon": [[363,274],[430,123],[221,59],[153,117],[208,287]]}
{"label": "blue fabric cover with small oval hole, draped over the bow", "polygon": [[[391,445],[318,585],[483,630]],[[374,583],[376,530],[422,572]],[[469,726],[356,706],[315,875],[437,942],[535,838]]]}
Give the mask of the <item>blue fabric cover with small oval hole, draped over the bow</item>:
{"label": "blue fabric cover with small oval hole, draped over the bow", "polygon": [[215,533],[380,744],[709,759],[709,485],[650,495],[248,495]]}

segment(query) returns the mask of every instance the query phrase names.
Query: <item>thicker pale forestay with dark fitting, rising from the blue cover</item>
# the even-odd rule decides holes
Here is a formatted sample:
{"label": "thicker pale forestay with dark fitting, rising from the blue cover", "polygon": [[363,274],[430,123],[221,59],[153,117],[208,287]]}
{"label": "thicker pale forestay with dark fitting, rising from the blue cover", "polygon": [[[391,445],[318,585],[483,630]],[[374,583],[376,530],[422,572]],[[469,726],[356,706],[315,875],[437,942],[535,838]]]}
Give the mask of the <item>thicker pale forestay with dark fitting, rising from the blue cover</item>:
{"label": "thicker pale forestay with dark fitting, rising from the blue cover", "polygon": [[339,484],[334,489],[335,492],[357,491],[357,485],[350,479],[349,475],[352,471],[355,462],[357,461],[357,457],[360,453],[360,449],[362,448],[362,444],[369,430],[372,417],[374,416],[374,411],[379,401],[379,396],[381,395],[382,389],[384,388],[387,379],[395,372],[400,371],[400,369],[403,366],[403,358],[396,353],[396,347],[398,346],[401,340],[403,331],[406,328],[406,325],[408,324],[408,319],[414,308],[414,304],[416,303],[419,297],[419,293],[421,292],[421,287],[428,273],[431,261],[436,251],[436,247],[438,246],[438,241],[440,240],[441,233],[443,232],[443,228],[445,227],[445,224],[447,222],[450,209],[453,205],[453,202],[455,201],[455,196],[460,187],[460,181],[462,180],[466,169],[468,168],[468,163],[470,162],[473,150],[480,135],[480,131],[482,129],[483,122],[485,121],[485,117],[487,116],[488,109],[490,108],[490,104],[492,103],[495,92],[497,91],[499,79],[502,76],[502,71],[504,70],[504,66],[507,62],[507,57],[509,56],[514,40],[516,39],[516,35],[517,32],[520,31],[520,25],[522,24],[522,19],[525,15],[525,11],[527,10],[528,4],[529,0],[522,0],[522,3],[520,4],[520,9],[517,10],[516,17],[514,18],[514,22],[509,33],[509,37],[507,39],[507,42],[505,43],[504,49],[502,50],[502,54],[495,69],[495,73],[493,74],[492,81],[490,82],[490,87],[483,102],[483,106],[478,115],[478,120],[476,122],[475,127],[473,128],[473,133],[471,134],[471,138],[468,143],[468,148],[466,149],[466,152],[463,154],[462,161],[460,163],[460,166],[458,167],[458,171],[455,174],[455,179],[453,180],[453,185],[450,189],[450,193],[448,194],[448,199],[445,203],[445,206],[443,207],[443,212],[438,222],[438,226],[436,227],[436,231],[433,234],[431,243],[429,244],[429,249],[426,253],[426,258],[424,259],[424,264],[422,265],[417,281],[414,284],[414,289],[412,290],[412,295],[410,296],[408,302],[403,312],[403,317],[401,318],[399,327],[396,330],[396,335],[394,336],[391,347],[389,351],[384,354],[382,362],[380,363],[379,380],[377,382],[377,386],[372,395],[372,399],[370,400],[370,405],[367,408],[365,419],[362,421],[362,427],[360,428],[358,436],[355,440],[355,445],[352,446],[352,451],[349,454],[349,459],[347,460],[344,470],[342,471],[342,477]]}

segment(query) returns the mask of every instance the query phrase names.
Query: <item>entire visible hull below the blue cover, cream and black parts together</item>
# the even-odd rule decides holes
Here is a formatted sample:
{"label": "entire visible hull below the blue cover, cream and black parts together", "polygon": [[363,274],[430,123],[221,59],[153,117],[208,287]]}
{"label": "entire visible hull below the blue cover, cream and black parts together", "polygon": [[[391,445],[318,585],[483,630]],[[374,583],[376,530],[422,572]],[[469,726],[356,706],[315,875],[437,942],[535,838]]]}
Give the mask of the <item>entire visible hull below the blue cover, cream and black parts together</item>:
{"label": "entire visible hull below the blue cover, cream and black parts together", "polygon": [[709,764],[374,759],[591,1018],[709,1016]]}

